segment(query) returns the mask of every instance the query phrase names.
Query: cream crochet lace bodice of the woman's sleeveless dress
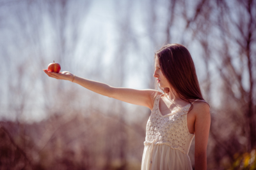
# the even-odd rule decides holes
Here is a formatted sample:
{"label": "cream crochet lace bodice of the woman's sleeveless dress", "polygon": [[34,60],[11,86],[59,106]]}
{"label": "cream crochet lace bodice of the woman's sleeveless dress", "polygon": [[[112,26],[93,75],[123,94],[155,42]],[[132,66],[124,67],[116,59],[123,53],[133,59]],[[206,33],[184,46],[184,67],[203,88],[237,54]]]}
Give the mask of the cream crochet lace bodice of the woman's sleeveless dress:
{"label": "cream crochet lace bodice of the woman's sleeveless dress", "polygon": [[163,116],[159,110],[160,97],[161,95],[156,97],[148,118],[144,144],[165,144],[188,154],[191,141],[195,136],[189,133],[187,125],[187,113],[191,104]]}

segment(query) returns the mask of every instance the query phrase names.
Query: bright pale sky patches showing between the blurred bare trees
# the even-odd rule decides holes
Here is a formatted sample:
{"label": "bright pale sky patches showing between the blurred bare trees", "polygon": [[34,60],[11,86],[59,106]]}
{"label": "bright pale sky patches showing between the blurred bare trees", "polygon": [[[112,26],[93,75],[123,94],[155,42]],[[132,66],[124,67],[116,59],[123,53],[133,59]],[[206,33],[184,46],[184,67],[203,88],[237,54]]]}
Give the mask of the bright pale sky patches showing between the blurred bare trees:
{"label": "bright pale sky patches showing between the blurred bare trees", "polygon": [[[102,63],[100,66],[100,73],[104,76],[102,76],[103,78],[101,80],[97,80],[96,78],[93,79],[93,77],[90,77],[90,75],[88,75],[87,73],[85,73],[84,71],[81,71],[79,73],[75,73],[75,74],[79,74],[80,76],[88,76],[87,78],[92,78],[95,81],[104,81],[104,83],[109,83],[109,85],[113,85],[115,86],[115,81],[112,82],[113,79],[109,79],[109,75],[111,74],[115,74],[113,72],[113,67],[115,67],[115,60],[114,60],[114,55],[115,55],[115,50],[116,50],[116,39],[118,39],[119,36],[119,32],[118,32],[118,27],[117,27],[117,22],[118,22],[118,18],[116,18],[116,2],[118,1],[92,1],[92,4],[90,4],[90,11],[88,12],[88,14],[86,14],[86,16],[84,16],[84,22],[81,24],[81,34],[79,34],[80,37],[82,37],[83,41],[81,43],[79,43],[79,45],[77,46],[77,51],[74,54],[74,59],[72,59],[72,62],[76,63],[77,66],[80,67],[90,67],[86,64],[89,63],[93,60],[96,60],[95,58],[90,57],[90,55],[97,55],[97,49],[100,46],[104,46],[105,50],[104,50],[104,57],[98,56],[99,58],[97,59],[102,59]],[[143,2],[143,1],[142,1]],[[126,4],[122,4],[122,2],[119,2],[120,6],[125,6]],[[134,30],[135,34],[138,35],[137,39],[138,39],[138,48],[143,48],[143,50],[148,52],[143,55],[142,53],[136,53],[136,49],[134,49],[134,47],[132,47],[132,45],[129,45],[129,53],[127,54],[127,59],[125,62],[127,62],[127,64],[125,64],[125,66],[127,65],[129,68],[127,68],[127,71],[129,71],[129,74],[127,74],[127,76],[125,77],[125,83],[124,83],[124,87],[127,88],[132,88],[132,89],[147,89],[148,85],[148,69],[145,64],[145,57],[147,57],[147,59],[152,59],[154,60],[154,51],[157,50],[159,48],[159,46],[155,46],[154,49],[146,49],[148,48],[148,42],[150,41],[149,36],[145,34],[145,27],[143,26],[143,24],[145,24],[145,21],[147,21],[147,15],[145,16],[145,12],[143,10],[141,10],[141,4],[138,1],[134,1],[134,6],[132,8],[132,20],[131,20],[131,27]],[[145,3],[145,2],[144,2]],[[192,3],[193,4],[193,3]],[[160,6],[160,5],[159,5]],[[161,7],[161,6],[160,6]],[[159,8],[160,8],[159,7]],[[143,8],[142,8],[143,9]],[[122,9],[121,9],[122,10]],[[163,15],[164,16],[164,9],[159,9],[160,14],[159,15]],[[120,15],[125,15],[124,13],[120,13]],[[161,17],[160,17],[161,18]],[[47,22],[47,17],[45,17],[45,23],[44,27],[45,30],[47,32],[45,33],[45,39],[44,39],[44,45],[45,46],[49,46],[51,45],[51,41],[52,41],[52,35],[54,35],[54,33],[52,33],[51,31],[51,23]],[[14,21],[14,20],[13,20]],[[10,21],[9,21],[10,22]],[[158,21],[160,23],[160,25],[164,25],[164,20],[163,22],[161,20]],[[48,24],[47,24],[48,23]],[[191,42],[191,35],[186,34],[186,35],[182,35],[180,34],[180,29],[184,27],[184,24],[186,24],[184,21],[179,20],[179,22],[175,22],[176,24],[173,26],[172,29],[172,39],[173,42],[172,43],[180,43],[180,39],[182,36],[184,38],[184,41],[188,40]],[[15,25],[15,22],[12,23],[13,25]],[[160,27],[159,25],[159,27]],[[7,31],[8,32],[8,31]],[[164,39],[164,34],[161,33],[161,29],[157,28],[157,32],[156,32],[157,36],[159,36],[159,38],[163,38]],[[15,34],[13,34],[15,35]],[[9,36],[13,36],[10,35]],[[93,35],[93,36],[92,36]],[[2,32],[1,36],[8,36],[8,33],[4,33]],[[86,39],[88,37],[93,38],[93,39]],[[15,37],[13,37],[15,38]],[[178,42],[176,42],[178,41]],[[93,45],[93,49],[95,50],[91,50],[90,53],[88,53],[89,56],[84,56],[84,46],[86,46],[88,43],[90,44],[90,42],[92,42]],[[3,45],[3,41],[1,41],[2,45]],[[86,44],[87,43],[87,44]],[[212,43],[218,43],[216,41],[212,41]],[[8,44],[8,43],[7,43]],[[31,48],[31,46],[26,46],[24,45],[28,51],[26,51],[26,48],[22,48],[23,50],[20,51],[21,53],[25,53],[24,55],[26,55],[26,53],[29,54],[29,48]],[[205,78],[205,64],[202,61],[202,49],[200,48],[200,45],[198,43],[196,43],[195,41],[193,41],[193,43],[189,44],[188,50],[191,53],[193,60],[195,62],[195,66],[196,66],[196,73],[198,75],[198,79],[199,81],[202,81]],[[13,52],[13,56],[15,56],[13,59],[10,59],[10,61],[12,60],[20,60],[20,63],[22,63],[23,58],[21,57],[17,57],[17,53],[15,53],[15,48],[13,48],[13,46],[8,46],[7,48],[10,48],[9,52]],[[13,50],[12,50],[13,48]],[[35,47],[36,48],[36,47]],[[145,48],[145,49],[144,49]],[[141,50],[141,49],[140,49]],[[141,51],[143,51],[141,50]],[[47,57],[45,57],[45,59],[47,59],[47,61],[49,60],[49,62],[52,62],[52,53],[51,51],[45,51],[45,53],[48,55]],[[2,58],[3,59],[3,58]],[[88,63],[86,63],[86,61],[88,61]],[[89,62],[90,61],[90,62]],[[12,62],[11,62],[12,63]],[[81,64],[84,63],[84,64]],[[79,65],[80,64],[80,65]],[[45,68],[47,67],[47,63],[45,63]],[[77,71],[76,69],[78,69],[78,67],[68,67],[68,65],[61,65],[63,66],[64,70],[67,71]],[[218,73],[215,71],[216,68],[214,67],[214,64],[210,63],[210,70],[211,70],[211,79],[212,79],[212,103],[214,103],[216,106],[218,106],[220,103],[220,93],[218,92],[218,87],[220,86],[220,81],[218,80]],[[3,69],[3,68],[2,68]],[[61,69],[61,71],[63,71],[63,69]],[[126,68],[125,68],[126,69]],[[152,73],[149,73],[151,75],[153,75],[153,69],[154,69],[154,63],[152,62]],[[85,71],[88,71],[88,69],[84,69]],[[3,70],[6,71],[6,70]],[[93,73],[93,71],[92,71]],[[32,74],[32,73],[31,73]],[[248,87],[248,80],[246,80],[248,78],[248,76],[244,76],[244,87]],[[114,80],[115,80],[115,76],[113,76]],[[4,81],[7,81],[7,77],[3,77]],[[13,81],[17,81],[17,80],[13,80]],[[55,83],[56,80],[47,80],[49,81],[49,83]],[[26,82],[26,81],[25,81]],[[25,85],[26,83],[24,83]],[[39,84],[37,84],[38,88],[41,88]],[[76,88],[80,88],[80,87],[76,87]],[[236,89],[234,89],[236,90]],[[4,86],[1,87],[1,94],[3,97],[2,99],[8,97],[8,94],[6,92],[6,90],[4,89]],[[36,95],[36,90],[34,90],[34,92],[31,94]],[[18,97],[17,97],[18,98]],[[101,99],[104,99],[104,97],[102,97]],[[40,99],[33,101],[34,103],[42,103],[43,101],[41,101]],[[1,102],[3,104],[2,106],[2,111],[0,112],[0,117],[4,117],[4,118],[9,118],[11,120],[15,119],[15,115],[13,115],[12,113],[9,113],[8,111],[8,106],[6,104],[4,104],[4,101]],[[38,106],[38,105],[35,105]],[[141,106],[135,106],[132,104],[125,104],[125,106],[127,106],[127,108],[129,108],[131,111],[132,110],[136,110],[138,109],[138,107],[140,108]],[[141,110],[146,111],[146,109],[144,108],[140,108]],[[36,111],[35,111],[36,110]],[[40,110],[40,109],[36,109],[33,111],[28,111],[27,116],[25,115],[24,117],[26,117],[26,120],[29,121],[40,121],[42,120],[42,118],[46,118],[46,115],[44,114],[44,111]]]}

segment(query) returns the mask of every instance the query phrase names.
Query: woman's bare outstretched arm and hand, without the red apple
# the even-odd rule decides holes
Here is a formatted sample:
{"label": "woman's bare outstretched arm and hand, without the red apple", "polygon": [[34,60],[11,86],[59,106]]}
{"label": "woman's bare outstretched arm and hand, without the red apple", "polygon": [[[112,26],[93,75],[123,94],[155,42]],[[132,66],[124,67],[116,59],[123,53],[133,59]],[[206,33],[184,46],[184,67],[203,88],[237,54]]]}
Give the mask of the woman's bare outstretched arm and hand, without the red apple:
{"label": "woman's bare outstretched arm and hand, without the red apple", "polygon": [[[63,71],[61,73],[53,73],[44,69],[44,72],[52,77],[59,80],[68,80],[77,83],[88,90],[92,90],[103,96],[113,97],[120,101],[124,101],[131,104],[137,104],[140,106],[146,106],[152,110],[154,105],[154,94],[156,90],[146,89],[146,90],[136,90],[128,88],[118,88],[111,87],[105,83],[100,83],[98,81],[88,80],[79,76],[74,76],[74,74],[68,71]],[[158,92],[159,93],[159,92]]]}

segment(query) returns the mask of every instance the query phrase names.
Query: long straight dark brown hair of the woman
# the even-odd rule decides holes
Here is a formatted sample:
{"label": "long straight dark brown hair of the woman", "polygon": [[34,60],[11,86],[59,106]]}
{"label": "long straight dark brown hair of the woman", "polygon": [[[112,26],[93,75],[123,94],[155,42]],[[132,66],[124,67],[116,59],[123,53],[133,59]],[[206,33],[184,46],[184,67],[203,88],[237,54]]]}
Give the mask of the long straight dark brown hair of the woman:
{"label": "long straight dark brown hair of the woman", "polygon": [[[175,90],[180,99],[191,104],[190,110],[193,109],[191,99],[204,100],[196,76],[195,64],[185,46],[176,43],[164,45],[155,53],[155,59],[156,57],[172,90]],[[170,92],[169,88],[161,90],[164,94]]]}

